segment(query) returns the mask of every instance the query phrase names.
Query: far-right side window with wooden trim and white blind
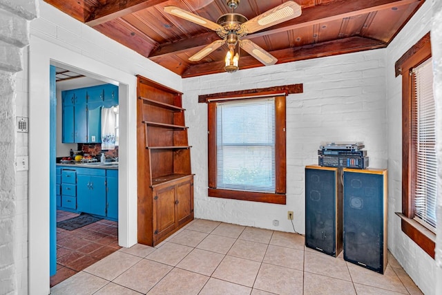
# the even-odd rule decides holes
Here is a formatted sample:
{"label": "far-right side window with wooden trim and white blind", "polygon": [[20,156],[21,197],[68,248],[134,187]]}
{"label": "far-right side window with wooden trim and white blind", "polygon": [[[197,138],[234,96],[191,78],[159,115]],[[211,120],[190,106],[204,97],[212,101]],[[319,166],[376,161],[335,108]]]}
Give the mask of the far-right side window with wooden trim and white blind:
{"label": "far-right side window with wooden trim and white blind", "polygon": [[436,215],[435,108],[430,34],[396,61],[402,75],[401,228],[434,258]]}

